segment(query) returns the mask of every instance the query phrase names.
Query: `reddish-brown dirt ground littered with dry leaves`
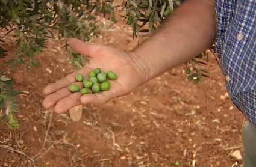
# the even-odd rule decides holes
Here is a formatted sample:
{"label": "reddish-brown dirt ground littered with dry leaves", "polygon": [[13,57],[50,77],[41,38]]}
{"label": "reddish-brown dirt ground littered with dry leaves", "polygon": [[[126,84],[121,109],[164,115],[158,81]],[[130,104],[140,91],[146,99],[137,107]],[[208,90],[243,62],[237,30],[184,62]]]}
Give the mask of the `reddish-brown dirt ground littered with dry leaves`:
{"label": "reddish-brown dirt ground littered with dry leaves", "polygon": [[[130,26],[119,22],[110,29],[107,25],[93,42],[125,51],[136,47]],[[6,40],[5,47],[11,50],[11,40]],[[188,82],[181,65],[126,96],[84,106],[81,120],[73,122],[68,112],[53,112],[50,119],[52,111],[42,106],[43,88],[74,70],[60,49],[63,45],[49,41],[49,49],[37,56],[40,67],[33,73],[17,68],[7,74],[15,79],[17,90],[27,93],[19,96],[20,127],[9,131],[0,122],[0,145],[18,150],[0,148],[1,167],[242,165],[229,154],[239,150],[243,155],[245,120],[228,97],[220,98],[226,96],[225,80],[213,56],[204,85]],[[1,70],[6,68],[1,62]],[[28,157],[37,153],[33,164]]]}

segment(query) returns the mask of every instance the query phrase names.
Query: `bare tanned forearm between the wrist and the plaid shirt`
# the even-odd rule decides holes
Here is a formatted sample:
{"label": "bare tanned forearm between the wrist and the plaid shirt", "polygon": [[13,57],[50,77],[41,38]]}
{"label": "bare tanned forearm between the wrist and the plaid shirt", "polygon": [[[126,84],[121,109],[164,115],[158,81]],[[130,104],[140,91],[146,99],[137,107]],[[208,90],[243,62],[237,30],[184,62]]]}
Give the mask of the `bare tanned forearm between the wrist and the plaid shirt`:
{"label": "bare tanned forearm between the wrist and the plaid shirt", "polygon": [[147,82],[211,47],[216,37],[213,0],[178,7],[151,37],[131,52]]}

